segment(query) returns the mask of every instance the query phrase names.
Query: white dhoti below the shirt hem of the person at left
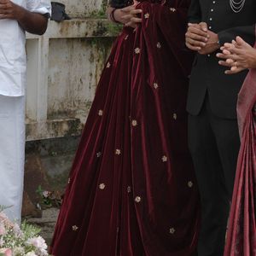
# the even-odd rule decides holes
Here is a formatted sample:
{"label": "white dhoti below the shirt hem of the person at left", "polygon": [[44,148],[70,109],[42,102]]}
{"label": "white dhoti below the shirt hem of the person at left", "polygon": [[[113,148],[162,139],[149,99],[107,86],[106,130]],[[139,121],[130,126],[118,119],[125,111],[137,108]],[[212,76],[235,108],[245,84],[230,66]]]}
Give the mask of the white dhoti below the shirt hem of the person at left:
{"label": "white dhoti below the shirt hem of the person at left", "polygon": [[0,96],[0,205],[20,221],[25,159],[25,96]]}

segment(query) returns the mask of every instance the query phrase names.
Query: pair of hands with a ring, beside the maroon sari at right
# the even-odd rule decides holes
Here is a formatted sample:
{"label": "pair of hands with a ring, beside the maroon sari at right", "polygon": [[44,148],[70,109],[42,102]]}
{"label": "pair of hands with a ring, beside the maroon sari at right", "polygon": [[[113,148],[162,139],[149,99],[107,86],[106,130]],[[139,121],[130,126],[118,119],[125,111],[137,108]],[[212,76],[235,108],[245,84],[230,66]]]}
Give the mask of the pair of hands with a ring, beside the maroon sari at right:
{"label": "pair of hands with a ring, beside the maroon sari at right", "polygon": [[242,38],[237,37],[232,44],[224,44],[218,58],[224,59],[218,63],[224,67],[230,67],[225,73],[239,73],[247,68],[256,68],[256,49],[247,44]]}

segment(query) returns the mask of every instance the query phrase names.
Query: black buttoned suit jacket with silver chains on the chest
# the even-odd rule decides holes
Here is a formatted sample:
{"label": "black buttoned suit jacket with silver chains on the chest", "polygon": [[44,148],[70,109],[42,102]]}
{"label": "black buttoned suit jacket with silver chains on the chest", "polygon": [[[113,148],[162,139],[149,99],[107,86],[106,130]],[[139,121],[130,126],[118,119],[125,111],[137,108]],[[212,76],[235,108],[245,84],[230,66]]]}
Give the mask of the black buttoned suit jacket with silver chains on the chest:
{"label": "black buttoned suit jacket with silver chains on the chest", "polygon": [[[236,1],[237,2],[237,1]],[[212,32],[218,33],[220,44],[241,36],[247,43],[255,41],[256,1],[246,0],[240,13],[230,8],[230,0],[192,0],[189,22],[207,22]],[[187,110],[193,115],[201,111],[208,92],[213,113],[225,119],[236,119],[237,94],[247,71],[224,74],[225,67],[218,65],[216,52],[195,56],[189,84]]]}

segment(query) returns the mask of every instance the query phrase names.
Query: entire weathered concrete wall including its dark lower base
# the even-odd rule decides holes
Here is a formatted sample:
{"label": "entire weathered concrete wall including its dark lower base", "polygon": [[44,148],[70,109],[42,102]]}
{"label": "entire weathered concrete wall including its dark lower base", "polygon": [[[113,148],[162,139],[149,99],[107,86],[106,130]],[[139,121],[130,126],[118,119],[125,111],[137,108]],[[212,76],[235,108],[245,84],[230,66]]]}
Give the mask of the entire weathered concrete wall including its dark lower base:
{"label": "entire weathered concrete wall including its dark lower base", "polygon": [[24,215],[37,212],[39,185],[61,191],[65,187],[96,84],[118,33],[103,18],[104,0],[62,3],[73,20],[50,21],[43,37],[26,35]]}

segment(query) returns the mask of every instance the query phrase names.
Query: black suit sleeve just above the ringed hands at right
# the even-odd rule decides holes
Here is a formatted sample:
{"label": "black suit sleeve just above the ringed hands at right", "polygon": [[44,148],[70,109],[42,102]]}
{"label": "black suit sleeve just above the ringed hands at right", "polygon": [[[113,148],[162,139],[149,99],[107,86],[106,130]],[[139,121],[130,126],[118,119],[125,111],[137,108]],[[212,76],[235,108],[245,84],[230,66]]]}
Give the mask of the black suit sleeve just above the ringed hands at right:
{"label": "black suit sleeve just above the ringed hands at right", "polygon": [[230,43],[237,36],[243,38],[248,44],[255,43],[255,25],[252,26],[236,26],[230,29],[218,32],[219,44]]}

